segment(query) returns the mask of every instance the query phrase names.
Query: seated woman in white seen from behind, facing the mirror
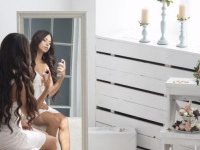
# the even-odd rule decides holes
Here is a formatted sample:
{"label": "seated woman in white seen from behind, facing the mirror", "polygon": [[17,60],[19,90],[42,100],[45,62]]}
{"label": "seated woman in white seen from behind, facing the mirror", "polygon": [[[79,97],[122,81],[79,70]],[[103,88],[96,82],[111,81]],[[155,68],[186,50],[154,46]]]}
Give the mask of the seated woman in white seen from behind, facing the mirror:
{"label": "seated woman in white seen from behind, facing the mirror", "polygon": [[56,150],[56,138],[31,127],[37,103],[31,82],[29,42],[10,33],[0,47],[0,149]]}

